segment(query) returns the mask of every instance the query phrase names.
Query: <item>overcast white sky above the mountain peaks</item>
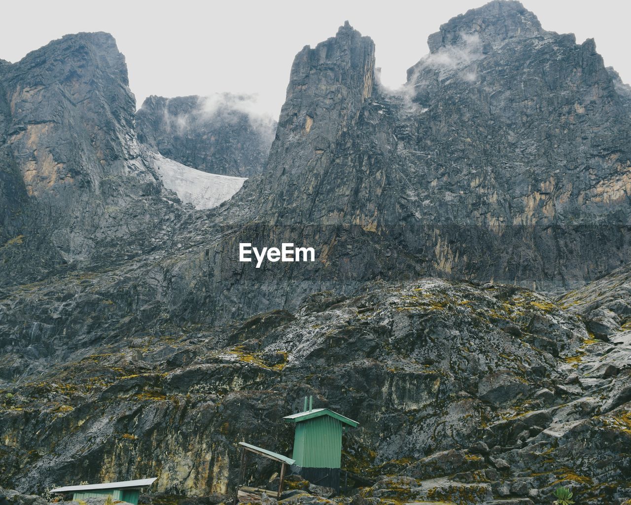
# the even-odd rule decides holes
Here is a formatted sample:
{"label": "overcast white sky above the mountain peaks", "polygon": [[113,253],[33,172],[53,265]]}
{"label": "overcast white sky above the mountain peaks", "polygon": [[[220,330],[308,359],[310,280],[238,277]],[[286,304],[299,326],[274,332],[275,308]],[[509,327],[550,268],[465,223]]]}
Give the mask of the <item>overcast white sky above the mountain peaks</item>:
{"label": "overcast white sky above the mountain peaks", "polygon": [[[293,57],[333,36],[349,20],[375,41],[382,81],[396,87],[427,54],[427,36],[484,0],[432,1],[77,1],[1,3],[0,58],[27,52],[66,33],[105,31],[126,56],[138,107],[148,95],[258,93],[277,117]],[[593,37],[605,64],[631,83],[628,22],[620,0],[523,0],[546,30]]]}

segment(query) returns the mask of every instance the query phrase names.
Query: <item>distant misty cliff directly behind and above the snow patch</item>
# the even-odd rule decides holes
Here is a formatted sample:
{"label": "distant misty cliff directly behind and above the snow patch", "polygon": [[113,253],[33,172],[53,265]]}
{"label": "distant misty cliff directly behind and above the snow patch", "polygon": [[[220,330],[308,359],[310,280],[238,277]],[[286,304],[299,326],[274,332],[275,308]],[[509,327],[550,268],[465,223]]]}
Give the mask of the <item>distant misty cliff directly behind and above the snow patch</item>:
{"label": "distant misty cliff directly behind and above the snow patch", "polygon": [[136,113],[138,139],[167,158],[211,174],[262,172],[276,121],[254,110],[254,97],[151,96]]}

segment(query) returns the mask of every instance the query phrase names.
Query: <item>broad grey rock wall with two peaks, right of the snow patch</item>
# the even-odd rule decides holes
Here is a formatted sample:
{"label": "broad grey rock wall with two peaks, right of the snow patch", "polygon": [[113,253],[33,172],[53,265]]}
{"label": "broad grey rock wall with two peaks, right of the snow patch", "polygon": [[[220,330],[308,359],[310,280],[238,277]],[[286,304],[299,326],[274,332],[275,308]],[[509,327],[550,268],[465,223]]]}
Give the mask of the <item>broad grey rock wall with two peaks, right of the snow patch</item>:
{"label": "broad grey rock wall with two peaks, right of the snow patch", "polygon": [[[558,290],[626,261],[629,116],[594,45],[546,32],[516,3],[469,11],[440,34],[392,92],[375,81],[372,40],[346,24],[296,57],[268,169],[228,205],[183,218],[158,194],[126,193],[122,207],[97,205],[106,217],[116,210],[112,226],[90,208],[81,216],[93,217],[91,231],[71,234],[66,211],[54,236],[73,247],[37,250],[110,269],[97,273],[95,290],[121,316],[153,302],[174,318],[217,322],[373,278],[464,276]],[[88,195],[77,198],[100,201]],[[29,254],[37,268],[27,268],[20,253],[32,247],[18,237],[4,258],[38,270],[49,253]],[[237,261],[240,241],[309,245],[319,261],[247,268]],[[117,295],[121,283],[138,296]],[[81,306],[66,290],[73,284],[47,285],[38,306],[8,300],[9,311],[60,329],[66,316],[40,314]],[[8,327],[21,334],[14,319]],[[37,324],[32,338],[42,340]],[[550,340],[538,333],[540,345]]]}

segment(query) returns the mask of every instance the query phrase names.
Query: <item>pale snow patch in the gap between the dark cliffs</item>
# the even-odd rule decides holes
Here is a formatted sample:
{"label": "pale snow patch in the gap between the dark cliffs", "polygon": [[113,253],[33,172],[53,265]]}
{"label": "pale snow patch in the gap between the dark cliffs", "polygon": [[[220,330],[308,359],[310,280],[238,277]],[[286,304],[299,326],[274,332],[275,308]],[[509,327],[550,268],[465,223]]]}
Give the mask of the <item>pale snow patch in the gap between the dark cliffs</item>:
{"label": "pale snow patch in the gap between the dark cliffs", "polygon": [[175,191],[184,203],[196,209],[210,209],[237,193],[246,177],[209,174],[192,169],[158,153],[149,153],[151,167],[167,189]]}

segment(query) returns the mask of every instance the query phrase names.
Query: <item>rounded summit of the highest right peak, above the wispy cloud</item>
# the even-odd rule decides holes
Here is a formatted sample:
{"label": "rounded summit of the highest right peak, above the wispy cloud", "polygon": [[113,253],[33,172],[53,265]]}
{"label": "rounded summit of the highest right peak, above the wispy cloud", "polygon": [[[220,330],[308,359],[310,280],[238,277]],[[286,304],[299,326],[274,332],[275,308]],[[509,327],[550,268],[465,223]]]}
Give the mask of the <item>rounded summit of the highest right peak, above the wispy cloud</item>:
{"label": "rounded summit of the highest right peak, above the wispy cloud", "polygon": [[430,52],[448,45],[468,44],[479,37],[490,45],[513,37],[534,37],[544,30],[533,13],[520,2],[495,0],[452,18],[427,39]]}

